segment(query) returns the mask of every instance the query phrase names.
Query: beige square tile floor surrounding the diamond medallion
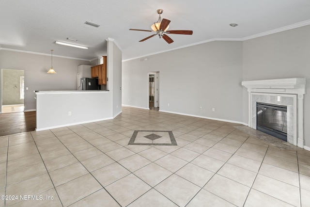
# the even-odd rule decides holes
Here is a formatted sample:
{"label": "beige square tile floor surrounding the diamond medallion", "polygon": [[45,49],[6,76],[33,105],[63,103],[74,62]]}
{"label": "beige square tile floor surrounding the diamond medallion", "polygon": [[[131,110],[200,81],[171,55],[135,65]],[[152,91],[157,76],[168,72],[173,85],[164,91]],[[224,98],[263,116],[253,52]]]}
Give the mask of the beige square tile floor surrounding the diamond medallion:
{"label": "beige square tile floor surrounding the diamond medallion", "polygon": [[[0,206],[310,206],[310,152],[240,126],[124,107],[113,120],[0,137]],[[171,130],[178,145],[128,145],[135,130]]]}

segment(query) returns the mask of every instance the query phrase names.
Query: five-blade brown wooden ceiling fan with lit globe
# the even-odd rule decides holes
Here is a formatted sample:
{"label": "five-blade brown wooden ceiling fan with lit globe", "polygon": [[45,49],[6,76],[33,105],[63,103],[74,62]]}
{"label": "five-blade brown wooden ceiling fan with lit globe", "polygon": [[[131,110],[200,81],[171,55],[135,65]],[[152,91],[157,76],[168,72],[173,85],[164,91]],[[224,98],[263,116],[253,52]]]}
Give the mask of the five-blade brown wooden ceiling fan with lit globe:
{"label": "five-blade brown wooden ceiling fan with lit globe", "polygon": [[144,31],[144,32],[155,32],[155,34],[152,34],[151,36],[148,36],[139,42],[143,42],[147,39],[150,39],[151,37],[154,37],[156,34],[159,36],[159,38],[163,38],[168,44],[173,43],[173,40],[167,35],[167,34],[193,34],[193,31],[191,30],[168,30],[170,20],[168,19],[161,19],[161,14],[164,10],[157,9],[157,14],[159,15],[158,21],[155,22],[152,26],[152,30],[138,30],[138,29],[129,29],[129,30],[135,30],[135,31]]}

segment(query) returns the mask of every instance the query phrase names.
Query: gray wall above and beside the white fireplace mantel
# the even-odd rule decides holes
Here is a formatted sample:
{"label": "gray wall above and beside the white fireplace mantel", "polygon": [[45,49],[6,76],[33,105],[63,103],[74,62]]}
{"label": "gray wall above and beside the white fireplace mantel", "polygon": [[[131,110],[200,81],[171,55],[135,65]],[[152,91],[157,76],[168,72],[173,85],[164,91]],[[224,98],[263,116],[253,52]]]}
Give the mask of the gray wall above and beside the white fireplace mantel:
{"label": "gray wall above and beside the white fireplace mantel", "polygon": [[[243,42],[243,80],[306,78],[310,91],[310,26]],[[248,93],[244,92],[244,102]],[[243,113],[248,114],[248,105]],[[304,104],[305,145],[310,147],[310,96]],[[244,117],[244,122],[248,118]]]}

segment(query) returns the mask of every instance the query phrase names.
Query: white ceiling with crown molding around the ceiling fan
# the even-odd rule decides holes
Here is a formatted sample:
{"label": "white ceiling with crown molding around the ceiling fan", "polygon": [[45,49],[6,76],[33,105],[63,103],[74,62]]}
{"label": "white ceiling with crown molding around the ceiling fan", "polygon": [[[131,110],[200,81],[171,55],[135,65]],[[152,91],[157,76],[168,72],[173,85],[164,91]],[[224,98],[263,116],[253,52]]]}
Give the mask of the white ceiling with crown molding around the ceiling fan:
{"label": "white ceiling with crown molding around the ceiling fan", "polygon": [[[158,36],[139,40],[158,19],[171,20],[168,44]],[[101,25],[95,28],[84,24]],[[230,23],[239,26],[231,27]],[[123,51],[123,60],[211,40],[245,40],[310,24],[310,0],[0,0],[0,47],[92,60],[106,55],[107,38]],[[77,39],[72,42],[66,38]],[[55,41],[89,49],[56,45]]]}

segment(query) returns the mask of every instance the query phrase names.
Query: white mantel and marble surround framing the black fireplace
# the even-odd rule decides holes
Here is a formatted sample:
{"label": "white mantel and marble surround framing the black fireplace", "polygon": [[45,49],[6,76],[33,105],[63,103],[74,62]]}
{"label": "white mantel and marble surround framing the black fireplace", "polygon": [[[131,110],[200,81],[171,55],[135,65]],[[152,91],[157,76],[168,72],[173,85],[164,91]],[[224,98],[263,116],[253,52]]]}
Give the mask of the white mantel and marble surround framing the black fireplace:
{"label": "white mantel and marble surround framing the black fireplace", "polygon": [[287,106],[287,142],[304,148],[305,78],[249,80],[241,83],[248,89],[248,126],[256,129],[256,103]]}

